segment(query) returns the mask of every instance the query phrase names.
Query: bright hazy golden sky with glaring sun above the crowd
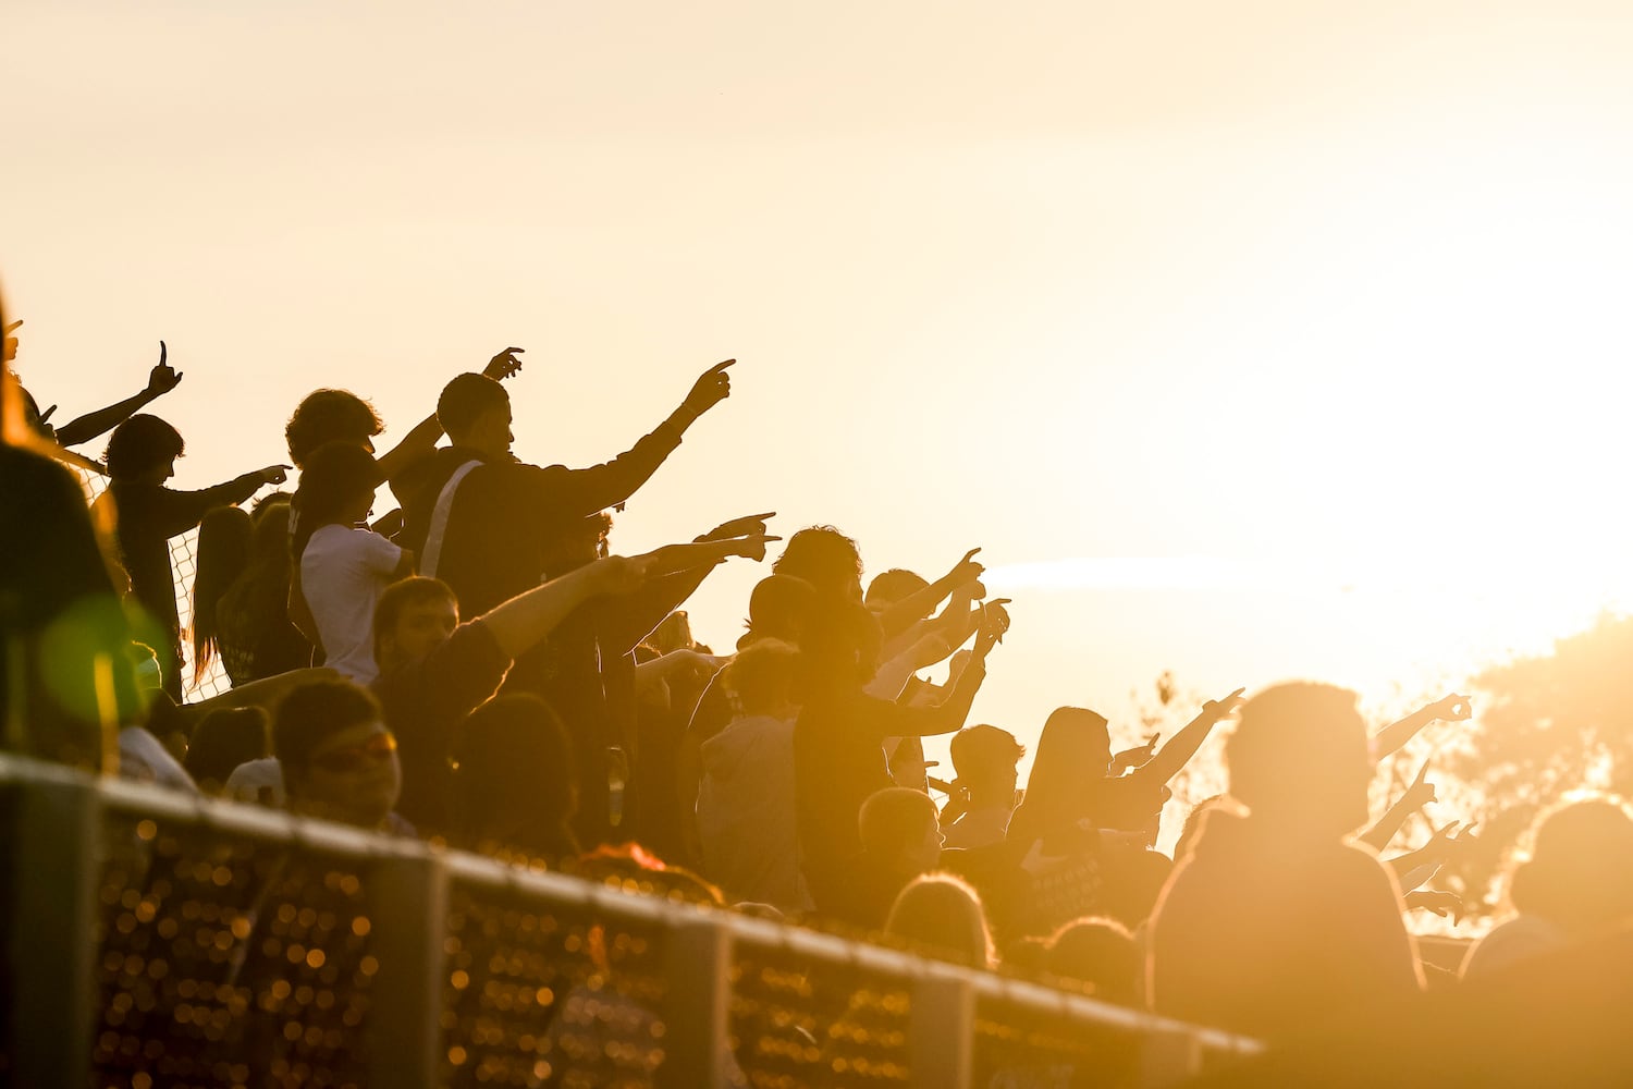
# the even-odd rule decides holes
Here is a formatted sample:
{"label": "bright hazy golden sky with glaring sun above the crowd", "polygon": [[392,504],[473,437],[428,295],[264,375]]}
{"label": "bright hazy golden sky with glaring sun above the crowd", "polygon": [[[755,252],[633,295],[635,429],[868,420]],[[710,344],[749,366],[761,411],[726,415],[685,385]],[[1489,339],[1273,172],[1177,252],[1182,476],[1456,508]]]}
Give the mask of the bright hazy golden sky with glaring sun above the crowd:
{"label": "bright hazy golden sky with glaring sun above the crowd", "polygon": [[[1626,3],[11,0],[0,274],[57,420],[142,385],[180,483],[302,393],[398,436],[506,344],[518,451],[732,400],[642,550],[777,509],[973,545],[1035,736],[1164,668],[1380,707],[1628,589]],[[95,452],[100,452],[100,446]],[[1009,567],[1022,565],[1022,567]],[[691,604],[717,647],[761,571]]]}

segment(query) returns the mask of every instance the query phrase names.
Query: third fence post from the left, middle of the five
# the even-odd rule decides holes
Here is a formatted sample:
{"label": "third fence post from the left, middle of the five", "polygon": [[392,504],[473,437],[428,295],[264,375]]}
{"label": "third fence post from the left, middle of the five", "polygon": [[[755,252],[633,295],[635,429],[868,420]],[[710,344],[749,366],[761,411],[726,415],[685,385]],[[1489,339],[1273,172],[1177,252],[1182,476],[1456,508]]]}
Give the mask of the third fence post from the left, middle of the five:
{"label": "third fence post from the left, middle of the five", "polygon": [[732,931],[707,916],[670,922],[665,1055],[661,1089],[715,1089],[730,1084],[727,1019],[732,999]]}

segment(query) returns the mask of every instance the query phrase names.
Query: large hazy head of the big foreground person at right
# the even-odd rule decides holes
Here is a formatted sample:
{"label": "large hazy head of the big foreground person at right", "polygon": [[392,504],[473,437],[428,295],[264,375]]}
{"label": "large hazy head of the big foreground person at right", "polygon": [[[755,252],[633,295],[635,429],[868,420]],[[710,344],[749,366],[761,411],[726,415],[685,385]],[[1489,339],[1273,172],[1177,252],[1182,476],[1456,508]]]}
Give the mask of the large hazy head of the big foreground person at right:
{"label": "large hazy head of the big foreground person at right", "polygon": [[1367,723],[1355,694],[1277,684],[1241,705],[1225,741],[1230,795],[1287,831],[1342,836],[1367,823]]}

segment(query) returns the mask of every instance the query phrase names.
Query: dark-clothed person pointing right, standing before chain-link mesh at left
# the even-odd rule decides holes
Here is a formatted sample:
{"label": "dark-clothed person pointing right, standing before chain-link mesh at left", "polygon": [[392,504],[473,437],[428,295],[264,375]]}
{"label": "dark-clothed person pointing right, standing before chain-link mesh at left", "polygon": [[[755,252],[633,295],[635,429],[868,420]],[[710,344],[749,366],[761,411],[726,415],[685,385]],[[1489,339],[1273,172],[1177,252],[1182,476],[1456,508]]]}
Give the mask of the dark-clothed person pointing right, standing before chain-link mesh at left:
{"label": "dark-clothed person pointing right, standing before chain-link mesh at left", "polygon": [[181,619],[170,571],[170,539],[196,527],[212,506],[237,506],[265,485],[284,482],[287,465],[268,465],[199,491],[175,491],[186,444],[158,416],[137,413],[108,439],[111,483],[96,500],[101,518],[113,519],[119,558],[131,578],[131,594],[157,622],[165,645],[155,647],[165,692],[181,700]]}

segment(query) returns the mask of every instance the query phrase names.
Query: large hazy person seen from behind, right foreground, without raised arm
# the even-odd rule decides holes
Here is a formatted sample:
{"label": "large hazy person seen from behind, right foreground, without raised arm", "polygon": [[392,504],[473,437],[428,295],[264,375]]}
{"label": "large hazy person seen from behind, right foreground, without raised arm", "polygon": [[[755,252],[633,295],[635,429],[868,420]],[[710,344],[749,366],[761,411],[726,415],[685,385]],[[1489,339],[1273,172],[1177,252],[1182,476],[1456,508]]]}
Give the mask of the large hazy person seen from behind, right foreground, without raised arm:
{"label": "large hazy person seen from behind, right foreground, without raised arm", "polygon": [[1346,842],[1367,823],[1373,767],[1355,694],[1282,684],[1254,696],[1225,762],[1248,813],[1208,811],[1163,890],[1148,1001],[1172,1017],[1287,1038],[1417,994],[1395,878]]}

